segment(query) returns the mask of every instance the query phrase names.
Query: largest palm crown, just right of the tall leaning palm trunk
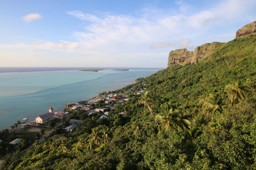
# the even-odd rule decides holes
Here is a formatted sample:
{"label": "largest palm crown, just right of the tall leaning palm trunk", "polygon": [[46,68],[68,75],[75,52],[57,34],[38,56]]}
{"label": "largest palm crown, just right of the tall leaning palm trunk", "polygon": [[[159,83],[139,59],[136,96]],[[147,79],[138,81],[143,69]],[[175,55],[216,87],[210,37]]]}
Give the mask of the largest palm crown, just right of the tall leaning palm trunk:
{"label": "largest palm crown, just right of the tall leaning palm trunk", "polygon": [[161,114],[156,115],[156,119],[160,121],[158,126],[159,133],[164,130],[168,130],[171,126],[175,129],[186,128],[186,125],[190,125],[190,121],[187,119],[182,119],[183,113],[178,109],[174,109],[171,103],[164,103],[161,105]]}

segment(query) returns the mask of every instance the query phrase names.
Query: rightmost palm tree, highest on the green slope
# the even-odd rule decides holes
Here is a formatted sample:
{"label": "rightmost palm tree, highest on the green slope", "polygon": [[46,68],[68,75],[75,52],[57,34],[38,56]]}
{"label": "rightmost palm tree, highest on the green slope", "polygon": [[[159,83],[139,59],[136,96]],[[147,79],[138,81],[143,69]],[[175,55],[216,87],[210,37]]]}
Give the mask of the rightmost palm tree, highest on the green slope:
{"label": "rightmost palm tree, highest on the green slope", "polygon": [[239,99],[245,99],[244,93],[250,92],[247,88],[247,86],[241,86],[239,80],[225,87],[232,105],[237,104]]}

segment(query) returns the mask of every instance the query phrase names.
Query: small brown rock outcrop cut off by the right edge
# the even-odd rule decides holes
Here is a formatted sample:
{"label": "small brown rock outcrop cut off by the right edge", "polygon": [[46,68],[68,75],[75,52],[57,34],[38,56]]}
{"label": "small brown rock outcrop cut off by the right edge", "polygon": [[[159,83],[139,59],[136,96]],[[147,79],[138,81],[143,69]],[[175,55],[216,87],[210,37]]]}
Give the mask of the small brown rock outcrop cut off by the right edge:
{"label": "small brown rock outcrop cut off by the right edge", "polygon": [[252,37],[254,34],[256,34],[256,21],[249,23],[237,30],[235,38]]}

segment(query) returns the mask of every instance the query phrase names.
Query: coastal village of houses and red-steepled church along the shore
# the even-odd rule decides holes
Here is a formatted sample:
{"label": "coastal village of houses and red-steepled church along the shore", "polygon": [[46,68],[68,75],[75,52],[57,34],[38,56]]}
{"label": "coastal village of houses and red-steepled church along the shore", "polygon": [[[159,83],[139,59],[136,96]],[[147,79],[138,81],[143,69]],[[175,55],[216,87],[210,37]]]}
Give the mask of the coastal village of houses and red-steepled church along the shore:
{"label": "coastal village of houses and red-steepled church along the shore", "polygon": [[[145,82],[142,82],[142,85],[146,85]],[[31,127],[34,127],[32,129],[36,129],[37,127],[49,127],[48,133],[45,133],[44,135],[41,134],[41,140],[43,139],[43,137],[47,137],[47,135],[49,135],[50,132],[54,130],[50,130],[50,127],[61,127],[66,132],[72,132],[79,126],[79,123],[83,121],[81,119],[72,119],[72,113],[80,112],[88,117],[93,115],[98,116],[98,119],[108,119],[109,112],[111,110],[114,110],[115,106],[124,105],[131,99],[128,97],[127,94],[140,95],[146,90],[146,88],[138,89],[138,87],[136,89],[134,86],[132,86],[127,91],[123,91],[122,93],[105,92],[96,95],[91,100],[81,100],[76,103],[67,103],[65,104],[66,108],[62,109],[63,112],[54,112],[53,107],[50,106],[50,108],[48,109],[48,113],[36,116],[34,121],[29,121],[27,118],[23,119],[24,121],[28,121],[27,123],[18,121],[18,125],[16,125],[16,130],[19,129],[23,131],[31,131]],[[117,114],[123,116],[125,113],[120,112]],[[11,126],[12,129],[14,127],[15,126]],[[35,139],[37,140],[38,137],[36,137]],[[9,144],[15,147],[22,140],[24,139],[17,138],[9,142]],[[2,140],[0,139],[0,142],[1,141]]]}

